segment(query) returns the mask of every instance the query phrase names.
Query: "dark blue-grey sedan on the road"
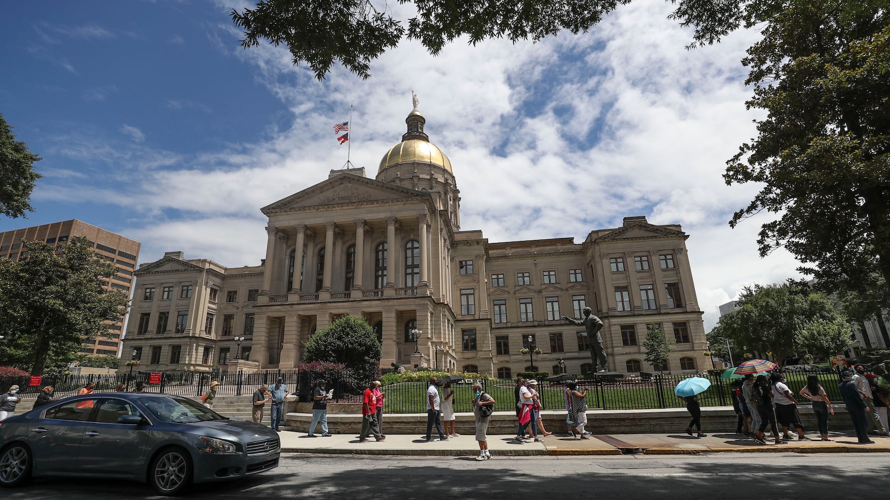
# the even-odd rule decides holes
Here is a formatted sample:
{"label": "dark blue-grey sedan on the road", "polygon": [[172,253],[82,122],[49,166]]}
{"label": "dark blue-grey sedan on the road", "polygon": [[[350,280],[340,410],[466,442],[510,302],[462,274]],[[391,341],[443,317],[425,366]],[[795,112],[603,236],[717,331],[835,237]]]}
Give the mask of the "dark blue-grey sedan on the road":
{"label": "dark blue-grey sedan on the road", "polygon": [[270,471],[279,453],[269,427],[230,420],[192,399],[93,393],[0,422],[0,486],[76,475],[147,481],[175,496],[193,482]]}

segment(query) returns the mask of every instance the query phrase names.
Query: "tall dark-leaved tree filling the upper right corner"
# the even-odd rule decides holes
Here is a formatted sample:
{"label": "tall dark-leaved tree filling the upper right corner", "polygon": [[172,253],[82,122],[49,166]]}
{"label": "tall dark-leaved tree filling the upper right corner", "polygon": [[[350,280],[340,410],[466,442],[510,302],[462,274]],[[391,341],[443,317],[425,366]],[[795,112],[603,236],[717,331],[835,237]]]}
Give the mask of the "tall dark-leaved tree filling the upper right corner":
{"label": "tall dark-leaved tree filling the upper right corner", "polygon": [[[730,160],[728,184],[760,192],[732,217],[762,211],[762,255],[785,246],[831,291],[890,282],[890,2],[751,2],[748,108],[757,136]],[[879,297],[886,306],[886,294]]]}

